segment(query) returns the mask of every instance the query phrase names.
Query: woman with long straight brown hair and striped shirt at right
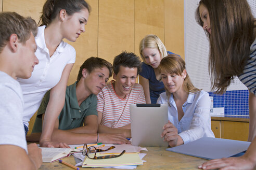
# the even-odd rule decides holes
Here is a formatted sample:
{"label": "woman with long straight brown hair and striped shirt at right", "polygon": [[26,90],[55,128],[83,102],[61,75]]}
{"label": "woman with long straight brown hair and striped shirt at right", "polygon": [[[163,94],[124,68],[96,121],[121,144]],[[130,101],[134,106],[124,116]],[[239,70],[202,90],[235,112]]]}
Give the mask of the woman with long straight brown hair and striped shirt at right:
{"label": "woman with long straight brown hair and striped shirt at right", "polygon": [[249,89],[248,140],[254,138],[242,157],[212,160],[199,168],[256,168],[256,20],[246,0],[202,0],[196,20],[210,41],[212,89],[224,93],[235,76]]}

